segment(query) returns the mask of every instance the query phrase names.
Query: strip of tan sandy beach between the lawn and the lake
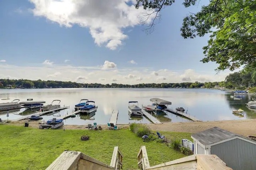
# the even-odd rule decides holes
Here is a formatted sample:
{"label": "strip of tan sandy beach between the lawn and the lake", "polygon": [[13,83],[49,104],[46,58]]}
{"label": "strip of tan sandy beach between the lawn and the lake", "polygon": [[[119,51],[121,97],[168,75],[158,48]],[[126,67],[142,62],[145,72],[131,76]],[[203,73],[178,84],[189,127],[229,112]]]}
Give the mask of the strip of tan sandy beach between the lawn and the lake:
{"label": "strip of tan sandy beach between the lawn and the lake", "polygon": [[[24,126],[27,121],[11,122],[10,125]],[[29,127],[38,128],[38,121],[29,121]],[[232,121],[207,121],[207,122],[183,122],[183,123],[163,123],[161,125],[146,124],[152,130],[172,131],[172,132],[190,132],[196,133],[212,127],[220,127],[230,132],[242,136],[256,136],[256,119],[232,120]],[[65,129],[86,129],[86,125],[64,125]],[[128,128],[129,125],[118,125],[118,128]],[[102,125],[107,129],[107,125]]]}

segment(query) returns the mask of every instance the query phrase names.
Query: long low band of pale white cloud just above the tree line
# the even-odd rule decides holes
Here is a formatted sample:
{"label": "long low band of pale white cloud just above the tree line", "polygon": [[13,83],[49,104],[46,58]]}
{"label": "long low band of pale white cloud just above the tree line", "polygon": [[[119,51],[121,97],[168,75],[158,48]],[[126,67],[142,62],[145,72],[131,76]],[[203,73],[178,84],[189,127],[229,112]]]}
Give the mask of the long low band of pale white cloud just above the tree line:
{"label": "long low band of pale white cloud just above the tree line", "polygon": [[[104,83],[111,84],[115,81],[122,84],[138,83],[181,83],[181,82],[205,82],[223,81],[230,73],[215,71],[200,73],[192,69],[179,72],[172,70],[156,70],[161,76],[151,75],[152,69],[145,71],[144,67],[136,69],[125,68],[116,71],[102,70],[98,66],[75,67],[70,65],[54,64],[54,67],[44,67],[35,65],[33,67],[8,65],[0,63],[0,77],[10,79],[30,79],[30,80],[56,80],[56,81],[80,81],[81,83]],[[91,75],[93,73],[93,75]],[[135,77],[136,76],[136,77]]]}

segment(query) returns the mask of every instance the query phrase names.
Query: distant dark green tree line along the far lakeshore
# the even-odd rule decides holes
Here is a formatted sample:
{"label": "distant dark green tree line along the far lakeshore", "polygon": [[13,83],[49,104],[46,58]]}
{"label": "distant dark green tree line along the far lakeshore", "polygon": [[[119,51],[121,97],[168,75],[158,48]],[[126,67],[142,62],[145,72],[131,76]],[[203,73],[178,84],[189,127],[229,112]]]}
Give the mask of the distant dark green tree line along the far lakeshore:
{"label": "distant dark green tree line along the far lakeshore", "polygon": [[255,71],[238,71],[229,74],[225,81],[221,82],[204,82],[198,81],[191,83],[140,83],[136,85],[127,84],[100,84],[100,83],[76,83],[71,81],[44,81],[44,80],[27,80],[27,79],[0,79],[0,88],[22,88],[22,89],[42,89],[42,88],[225,88],[225,89],[246,89],[247,87],[256,86]]}

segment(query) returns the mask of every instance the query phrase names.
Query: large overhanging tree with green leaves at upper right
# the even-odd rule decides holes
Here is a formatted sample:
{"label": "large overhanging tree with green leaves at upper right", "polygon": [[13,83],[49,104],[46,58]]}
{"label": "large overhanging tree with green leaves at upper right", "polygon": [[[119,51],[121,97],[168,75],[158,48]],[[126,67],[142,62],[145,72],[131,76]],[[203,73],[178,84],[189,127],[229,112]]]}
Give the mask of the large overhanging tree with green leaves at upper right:
{"label": "large overhanging tree with green leaves at upper right", "polygon": [[[142,5],[144,9],[152,10],[148,15],[155,15],[148,28],[152,30],[159,12],[175,0],[136,1],[136,8]],[[183,0],[183,5],[189,7],[199,1]],[[218,63],[217,70],[256,67],[256,0],[210,0],[200,12],[190,13],[183,19],[180,31],[184,38],[210,33],[201,61]]]}

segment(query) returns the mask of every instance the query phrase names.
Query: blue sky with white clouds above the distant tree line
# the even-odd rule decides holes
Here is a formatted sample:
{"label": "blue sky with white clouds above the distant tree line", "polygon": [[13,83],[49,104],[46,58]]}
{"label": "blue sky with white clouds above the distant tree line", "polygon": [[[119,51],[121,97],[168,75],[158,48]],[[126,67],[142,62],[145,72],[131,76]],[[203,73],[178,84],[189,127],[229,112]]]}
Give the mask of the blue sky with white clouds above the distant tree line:
{"label": "blue sky with white clouds above the distant tree line", "polygon": [[103,84],[222,81],[228,71],[216,75],[215,63],[200,62],[208,36],[180,36],[184,16],[201,5],[185,8],[177,1],[146,34],[140,19],[147,11],[123,0],[2,0],[0,78]]}

